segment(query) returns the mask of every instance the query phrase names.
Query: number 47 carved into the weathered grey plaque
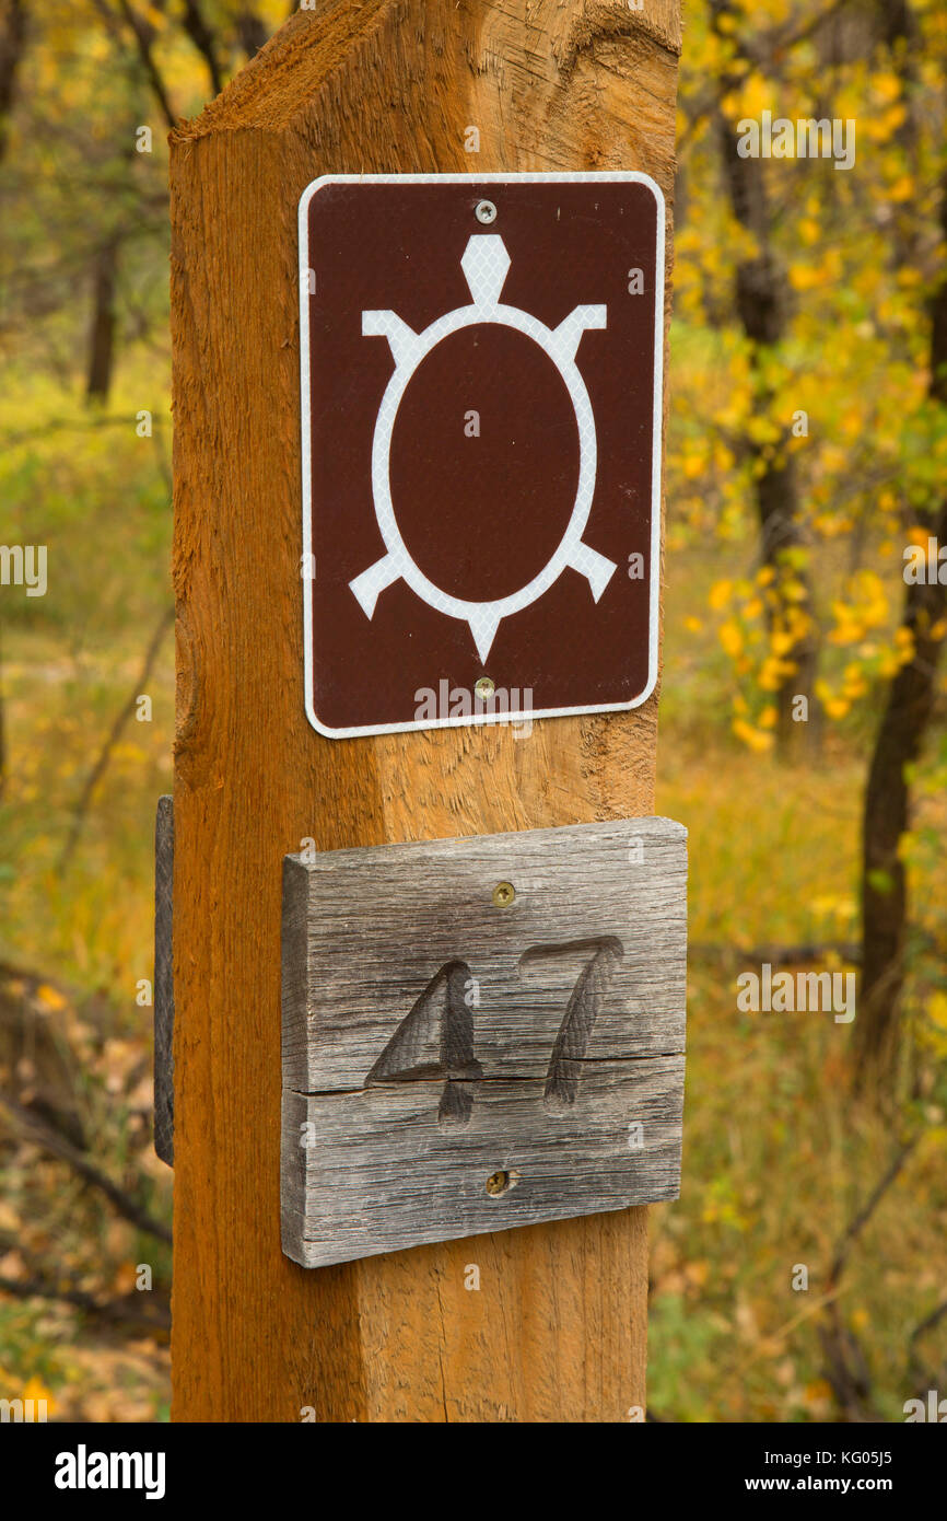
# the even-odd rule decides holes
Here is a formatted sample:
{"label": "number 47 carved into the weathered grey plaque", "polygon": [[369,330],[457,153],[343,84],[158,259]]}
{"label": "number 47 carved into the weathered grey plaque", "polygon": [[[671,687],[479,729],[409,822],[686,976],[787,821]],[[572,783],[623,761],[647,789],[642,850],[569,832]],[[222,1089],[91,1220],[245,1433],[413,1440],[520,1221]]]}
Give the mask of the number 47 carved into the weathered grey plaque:
{"label": "number 47 carved into the weathered grey plaque", "polygon": [[[575,1103],[581,1060],[617,963],[622,945],[616,938],[573,940],[562,946],[535,946],[520,960],[520,970],[550,955],[585,955],[546,1069],[544,1103],[561,1109]],[[467,961],[448,961],[404,1016],[382,1056],[365,1078],[375,1083],[410,1083],[442,1077],[438,1104],[441,1124],[465,1126],[473,1113],[473,1083],[483,1077],[474,1057],[471,989],[477,983]]]}

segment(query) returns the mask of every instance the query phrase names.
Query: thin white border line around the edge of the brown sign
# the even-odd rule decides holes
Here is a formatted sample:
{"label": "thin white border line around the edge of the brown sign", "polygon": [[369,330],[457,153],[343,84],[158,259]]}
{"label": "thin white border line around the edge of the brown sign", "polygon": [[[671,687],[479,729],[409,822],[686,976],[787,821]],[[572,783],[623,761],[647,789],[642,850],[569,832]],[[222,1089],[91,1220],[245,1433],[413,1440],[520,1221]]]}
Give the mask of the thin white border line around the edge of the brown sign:
{"label": "thin white border line around the edge of the brown sign", "polygon": [[302,426],[302,560],[312,566],[312,414],[309,395],[309,202],[330,184],[640,184],[648,186],[657,205],[655,316],[654,316],[654,414],[651,450],[651,584],[648,616],[648,683],[629,703],[593,703],[590,707],[544,707],[509,713],[471,713],[461,718],[418,719],[409,724],[365,724],[357,729],[330,729],[315,709],[313,595],[315,576],[302,576],[302,657],[306,671],[306,716],[327,739],[356,739],[360,735],[400,735],[418,729],[459,729],[468,724],[523,722],[526,718],[569,718],[579,713],[628,712],[646,703],[658,680],[658,602],[661,575],[661,433],[664,421],[664,193],[637,169],[581,170],[576,173],[494,173],[494,175],[321,175],[299,196],[299,391]]}

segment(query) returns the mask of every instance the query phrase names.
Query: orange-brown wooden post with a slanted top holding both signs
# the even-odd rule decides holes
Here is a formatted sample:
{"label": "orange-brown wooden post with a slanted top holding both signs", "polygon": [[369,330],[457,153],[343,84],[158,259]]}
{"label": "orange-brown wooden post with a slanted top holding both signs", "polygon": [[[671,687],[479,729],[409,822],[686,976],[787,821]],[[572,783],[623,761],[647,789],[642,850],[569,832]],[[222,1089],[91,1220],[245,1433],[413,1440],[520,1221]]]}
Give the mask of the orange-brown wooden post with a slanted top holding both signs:
{"label": "orange-brown wooden post with a slanted top holding both signs", "polygon": [[648,814],[657,739],[657,697],[524,742],[310,727],[296,204],[328,172],[640,169],[670,205],[678,52],[678,0],[322,0],[173,134],[178,1421],[645,1405],[643,1208],[315,1270],[280,1250],[283,856]]}

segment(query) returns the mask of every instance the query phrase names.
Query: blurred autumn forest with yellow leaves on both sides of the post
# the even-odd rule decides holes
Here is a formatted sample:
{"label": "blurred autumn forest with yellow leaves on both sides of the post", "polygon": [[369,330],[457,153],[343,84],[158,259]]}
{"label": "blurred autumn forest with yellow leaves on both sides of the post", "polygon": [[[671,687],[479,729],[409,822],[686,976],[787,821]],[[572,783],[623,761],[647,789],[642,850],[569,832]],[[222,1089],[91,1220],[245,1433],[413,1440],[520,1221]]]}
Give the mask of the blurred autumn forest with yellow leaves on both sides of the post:
{"label": "blurred autumn forest with yellow leaves on both sides of the post", "polygon": [[[49,546],[44,596],[0,587],[0,1395],[64,1419],[169,1410],[166,134],[289,9],[0,0],[0,538]],[[854,163],[743,157],[766,111],[854,123]],[[686,3],[657,811],[690,830],[690,1056],[683,1194],[652,1211],[660,1421],[947,1393],[945,114],[936,0]],[[742,1011],[763,963],[856,970],[856,1019]]]}

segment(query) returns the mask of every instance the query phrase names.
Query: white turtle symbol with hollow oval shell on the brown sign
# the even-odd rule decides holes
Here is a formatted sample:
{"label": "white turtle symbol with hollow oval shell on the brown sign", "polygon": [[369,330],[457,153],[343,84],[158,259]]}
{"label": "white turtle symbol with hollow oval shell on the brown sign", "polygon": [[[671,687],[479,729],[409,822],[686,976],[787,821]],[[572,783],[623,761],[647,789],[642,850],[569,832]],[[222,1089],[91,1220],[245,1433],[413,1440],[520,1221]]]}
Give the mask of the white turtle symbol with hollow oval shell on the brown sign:
{"label": "white turtle symbol with hollow oval shell on the brown sign", "polygon": [[[388,554],[369,566],[368,570],[363,570],[362,575],[356,576],[354,581],[350,581],[350,587],[359,599],[362,611],[371,619],[378,595],[398,578],[404,580],[429,607],[470,624],[480,660],[486,660],[500,621],[509,618],[512,613],[518,613],[523,607],[529,607],[531,602],[543,596],[567,566],[585,576],[596,602],[616,570],[613,560],[607,560],[605,555],[600,555],[582,541],[594,494],[597,455],[591,402],[575,359],[582,333],[587,329],[605,327],[608,309],[605,306],[576,306],[558,327],[546,327],[544,322],[531,316],[529,312],[523,312],[515,306],[505,306],[500,301],[509,263],[511,259],[502,237],[496,233],[474,234],[461,259],[461,268],[470,287],[471,304],[445,312],[444,316],[439,316],[426,327],[423,333],[415,333],[397,312],[362,312],[362,333],[365,336],[388,338],[395,360],[394,373],[378,406],[371,458],[375,517]],[[518,592],[488,602],[471,602],[459,596],[451,596],[424,575],[412,560],[401,538],[391,499],[391,441],[401,397],[418,365],[442,338],[479,322],[499,322],[503,327],[514,327],[517,332],[532,338],[549,354],[565,382],[579,427],[579,482],[576,499],[569,526],[556,551],[538,575],[520,587]]]}

